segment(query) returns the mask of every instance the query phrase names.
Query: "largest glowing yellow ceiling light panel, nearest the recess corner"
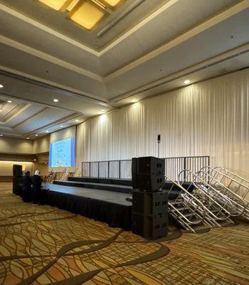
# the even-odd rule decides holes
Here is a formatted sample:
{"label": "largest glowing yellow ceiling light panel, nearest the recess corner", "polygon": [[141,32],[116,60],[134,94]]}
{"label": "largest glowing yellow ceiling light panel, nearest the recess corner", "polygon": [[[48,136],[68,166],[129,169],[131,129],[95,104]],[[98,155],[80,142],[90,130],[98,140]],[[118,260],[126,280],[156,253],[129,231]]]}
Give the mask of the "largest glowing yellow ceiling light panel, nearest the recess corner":
{"label": "largest glowing yellow ceiling light panel, nearest the recess corner", "polygon": [[69,18],[75,23],[87,28],[95,28],[106,12],[90,0],[80,0],[80,2],[70,11]]}

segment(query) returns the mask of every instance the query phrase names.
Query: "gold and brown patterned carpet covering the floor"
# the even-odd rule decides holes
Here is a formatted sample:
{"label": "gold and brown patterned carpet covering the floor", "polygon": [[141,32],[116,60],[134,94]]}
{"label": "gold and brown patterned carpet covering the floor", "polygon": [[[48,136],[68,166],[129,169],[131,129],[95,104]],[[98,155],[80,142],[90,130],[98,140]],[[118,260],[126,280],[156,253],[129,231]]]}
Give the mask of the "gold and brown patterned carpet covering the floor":
{"label": "gold and brown patterned carpet covering the floor", "polygon": [[0,240],[0,284],[249,285],[249,223],[243,221],[148,242],[55,207],[23,203],[10,183],[1,183]]}

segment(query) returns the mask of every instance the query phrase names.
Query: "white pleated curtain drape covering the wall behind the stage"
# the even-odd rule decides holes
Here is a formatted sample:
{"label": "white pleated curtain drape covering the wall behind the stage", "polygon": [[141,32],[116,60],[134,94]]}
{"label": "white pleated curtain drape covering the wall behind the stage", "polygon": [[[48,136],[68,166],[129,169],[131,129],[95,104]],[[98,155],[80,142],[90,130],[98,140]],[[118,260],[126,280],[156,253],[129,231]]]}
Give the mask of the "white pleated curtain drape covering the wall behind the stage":
{"label": "white pleated curtain drape covering the wall behind the stage", "polygon": [[211,165],[249,177],[249,70],[221,76],[85,121],[77,163],[210,155]]}

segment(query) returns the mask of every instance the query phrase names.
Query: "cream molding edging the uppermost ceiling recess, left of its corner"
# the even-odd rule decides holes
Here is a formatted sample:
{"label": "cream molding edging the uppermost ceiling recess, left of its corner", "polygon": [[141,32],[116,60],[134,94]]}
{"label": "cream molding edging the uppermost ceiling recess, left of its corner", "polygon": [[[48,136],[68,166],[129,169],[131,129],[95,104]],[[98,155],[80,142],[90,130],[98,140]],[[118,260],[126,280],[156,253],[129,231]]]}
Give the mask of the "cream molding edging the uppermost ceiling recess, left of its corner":
{"label": "cream molding edging the uppermost ceiling recess, left of its corner", "polygon": [[15,16],[18,19],[21,19],[22,21],[25,21],[28,24],[31,24],[32,26],[36,26],[36,28],[40,28],[43,31],[46,31],[47,33],[51,33],[51,35],[56,36],[57,38],[62,39],[63,41],[66,41],[73,46],[77,46],[78,48],[83,49],[84,51],[87,51],[88,53],[92,53],[94,56],[99,56],[99,53],[92,48],[89,48],[88,46],[83,45],[82,43],[79,43],[78,41],[74,41],[73,38],[69,38],[68,36],[63,35],[63,33],[59,33],[53,28],[49,28],[46,25],[43,25],[39,23],[38,21],[35,21],[31,18],[28,18],[28,16],[25,16],[18,11],[15,11],[14,9],[11,9],[8,6],[5,6],[4,4],[0,4],[0,10],[10,14],[11,16]]}

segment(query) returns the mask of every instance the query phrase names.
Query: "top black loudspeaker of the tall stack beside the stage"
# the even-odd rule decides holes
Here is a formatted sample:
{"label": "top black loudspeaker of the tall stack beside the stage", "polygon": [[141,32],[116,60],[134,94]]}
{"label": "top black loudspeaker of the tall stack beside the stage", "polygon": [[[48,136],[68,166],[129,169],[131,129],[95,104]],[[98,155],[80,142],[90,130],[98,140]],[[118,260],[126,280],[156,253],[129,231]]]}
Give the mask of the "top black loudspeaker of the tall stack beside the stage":
{"label": "top black loudspeaker of the tall stack beside the stage", "polygon": [[157,157],[132,158],[134,189],[157,191],[164,186],[165,161]]}

